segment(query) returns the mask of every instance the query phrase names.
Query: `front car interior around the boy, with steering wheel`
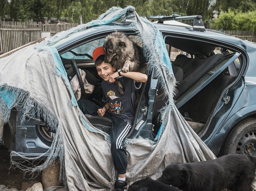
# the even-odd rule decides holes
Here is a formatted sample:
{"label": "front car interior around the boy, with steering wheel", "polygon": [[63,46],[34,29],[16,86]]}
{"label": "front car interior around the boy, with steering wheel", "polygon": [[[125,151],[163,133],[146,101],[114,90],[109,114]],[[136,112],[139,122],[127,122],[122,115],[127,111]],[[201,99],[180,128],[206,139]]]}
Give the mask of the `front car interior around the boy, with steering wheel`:
{"label": "front car interior around the boy, with steering wheel", "polygon": [[[140,44],[140,39],[138,39],[137,36],[130,35],[130,38],[133,39],[137,44]],[[102,46],[103,43],[104,43],[104,38],[100,38],[100,39],[91,41],[87,44],[83,44],[79,47],[76,47],[76,48],[69,50],[66,53],[60,55],[62,62],[64,64],[64,67],[66,69],[67,76],[68,76],[69,80],[72,80],[72,78],[78,73],[77,71],[79,68],[86,73],[85,78],[86,78],[87,82],[94,85],[94,90],[91,94],[86,94],[86,93],[84,93],[84,90],[82,90],[82,96],[80,99],[90,100],[91,102],[93,102],[99,106],[103,106],[105,104],[104,102],[102,102],[102,96],[103,96],[103,92],[101,89],[102,78],[97,74],[97,71],[95,69],[94,61],[92,58],[92,52],[98,46]],[[84,50],[87,50],[86,53]],[[151,74],[148,74],[148,75],[150,76]],[[150,79],[148,81],[150,81]],[[147,83],[148,82],[146,82],[142,85],[142,87],[140,88],[140,91],[139,91],[140,93],[144,92],[144,94],[145,94],[145,90],[146,90],[145,84],[147,84]],[[82,86],[80,85],[80,87],[82,87]],[[147,94],[145,94],[145,95],[146,95],[146,97],[145,97],[146,100],[148,100],[148,98],[147,98],[148,95]],[[139,105],[140,103],[141,103],[141,100],[139,99],[139,96],[137,96],[136,105]],[[135,109],[136,117],[140,116],[139,110],[140,110],[139,107],[136,107],[136,109]],[[112,124],[110,119],[102,118],[99,116],[90,116],[88,114],[86,114],[85,117],[89,120],[89,122],[94,127],[98,128],[100,130],[103,130],[106,133],[110,132],[110,128],[111,128],[111,124]],[[133,126],[135,128],[135,124]],[[131,132],[128,136],[131,135]]]}

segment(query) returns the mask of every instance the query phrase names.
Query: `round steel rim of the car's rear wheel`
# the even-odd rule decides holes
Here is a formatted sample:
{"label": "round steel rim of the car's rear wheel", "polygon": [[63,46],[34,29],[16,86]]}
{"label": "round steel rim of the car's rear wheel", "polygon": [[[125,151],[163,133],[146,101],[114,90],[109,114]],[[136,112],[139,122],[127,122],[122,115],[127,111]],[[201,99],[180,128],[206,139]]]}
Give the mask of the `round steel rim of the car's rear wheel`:
{"label": "round steel rim of the car's rear wheel", "polygon": [[243,135],[236,146],[236,153],[256,157],[256,130]]}

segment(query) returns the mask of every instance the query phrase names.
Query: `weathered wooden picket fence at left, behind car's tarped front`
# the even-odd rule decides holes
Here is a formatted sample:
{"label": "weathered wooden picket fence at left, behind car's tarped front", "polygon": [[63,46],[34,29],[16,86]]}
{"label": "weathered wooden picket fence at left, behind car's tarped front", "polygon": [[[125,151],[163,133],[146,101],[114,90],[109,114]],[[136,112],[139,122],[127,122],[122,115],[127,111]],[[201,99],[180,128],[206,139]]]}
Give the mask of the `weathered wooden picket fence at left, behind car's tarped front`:
{"label": "weathered wooden picket fence at left, behind car's tarped front", "polygon": [[0,54],[9,52],[29,42],[41,39],[41,32],[57,32],[75,27],[76,23],[42,24],[41,22],[15,22],[0,19]]}

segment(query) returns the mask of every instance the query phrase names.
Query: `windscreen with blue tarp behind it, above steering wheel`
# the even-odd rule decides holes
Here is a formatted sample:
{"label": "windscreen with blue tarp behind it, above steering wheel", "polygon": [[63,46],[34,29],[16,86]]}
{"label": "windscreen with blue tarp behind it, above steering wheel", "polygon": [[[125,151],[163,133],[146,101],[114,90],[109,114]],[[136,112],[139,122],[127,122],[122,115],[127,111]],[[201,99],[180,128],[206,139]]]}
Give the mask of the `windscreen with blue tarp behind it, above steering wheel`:
{"label": "windscreen with blue tarp behind it, above steering wheel", "polygon": [[61,55],[62,59],[92,59],[92,52],[95,48],[103,46],[105,38],[100,38],[72,50],[67,51]]}

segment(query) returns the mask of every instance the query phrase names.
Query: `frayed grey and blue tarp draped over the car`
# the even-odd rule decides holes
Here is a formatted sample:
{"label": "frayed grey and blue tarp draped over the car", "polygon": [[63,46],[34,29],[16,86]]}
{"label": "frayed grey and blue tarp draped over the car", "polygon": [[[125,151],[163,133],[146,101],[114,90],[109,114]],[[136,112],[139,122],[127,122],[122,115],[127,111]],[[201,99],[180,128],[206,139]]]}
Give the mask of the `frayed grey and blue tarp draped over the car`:
{"label": "frayed grey and blue tarp draped over the car", "polygon": [[[113,22],[126,14],[112,7],[97,20],[61,32],[36,45],[30,45],[0,59],[0,114],[7,122],[13,107],[21,106],[25,116],[37,112],[56,129],[47,161],[28,171],[42,170],[55,160],[58,152],[62,179],[69,190],[110,190],[116,171],[112,164],[109,135],[94,128],[77,106],[64,66],[57,50],[49,45],[67,35],[86,30],[88,26]],[[162,111],[163,125],[156,142],[143,138],[126,139],[127,181],[129,184],[146,177],[159,177],[172,162],[196,162],[215,156],[181,116],[173,102],[175,78],[165,42],[157,27],[132,14],[130,27],[143,41],[149,68],[155,68],[169,97]],[[34,109],[33,109],[34,108]],[[0,128],[1,129],[1,128]],[[2,136],[0,134],[0,136]],[[26,158],[25,158],[26,159]]]}

